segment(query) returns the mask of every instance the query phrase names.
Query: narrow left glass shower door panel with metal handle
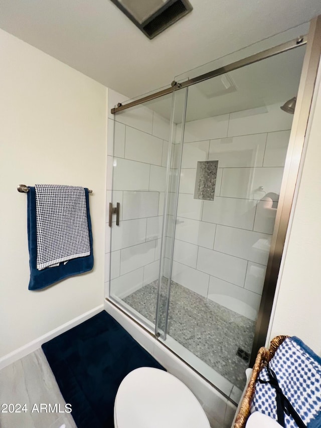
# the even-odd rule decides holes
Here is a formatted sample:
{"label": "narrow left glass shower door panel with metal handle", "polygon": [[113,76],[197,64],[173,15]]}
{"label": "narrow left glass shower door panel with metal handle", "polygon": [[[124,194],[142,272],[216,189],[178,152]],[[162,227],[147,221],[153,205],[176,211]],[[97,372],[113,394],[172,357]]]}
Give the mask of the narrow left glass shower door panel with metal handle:
{"label": "narrow left glass shower door panel with metal handle", "polygon": [[[179,108],[181,98],[174,100]],[[173,209],[165,204],[175,153],[172,104],[173,95],[166,95],[118,112],[113,121],[111,203],[119,203],[119,225],[112,214],[110,298],[153,332],[164,210],[167,219]]]}

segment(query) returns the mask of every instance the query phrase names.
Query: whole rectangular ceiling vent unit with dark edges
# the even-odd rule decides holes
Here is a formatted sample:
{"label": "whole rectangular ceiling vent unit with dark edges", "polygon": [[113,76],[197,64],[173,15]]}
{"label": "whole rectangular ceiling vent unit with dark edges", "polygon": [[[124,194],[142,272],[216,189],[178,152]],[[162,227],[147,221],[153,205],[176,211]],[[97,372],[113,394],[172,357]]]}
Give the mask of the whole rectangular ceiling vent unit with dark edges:
{"label": "whole rectangular ceiling vent unit with dark edges", "polygon": [[148,39],[192,11],[188,0],[111,0]]}

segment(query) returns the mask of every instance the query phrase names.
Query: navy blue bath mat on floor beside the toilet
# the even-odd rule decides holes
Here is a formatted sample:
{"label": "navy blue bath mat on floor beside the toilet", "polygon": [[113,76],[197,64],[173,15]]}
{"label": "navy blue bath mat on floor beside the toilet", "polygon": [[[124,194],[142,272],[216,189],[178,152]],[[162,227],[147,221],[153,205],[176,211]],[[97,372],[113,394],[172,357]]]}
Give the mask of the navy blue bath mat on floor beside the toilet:
{"label": "navy blue bath mat on floor beside the toilet", "polygon": [[42,349],[78,428],[113,428],[122,379],[138,367],[165,370],[105,311]]}

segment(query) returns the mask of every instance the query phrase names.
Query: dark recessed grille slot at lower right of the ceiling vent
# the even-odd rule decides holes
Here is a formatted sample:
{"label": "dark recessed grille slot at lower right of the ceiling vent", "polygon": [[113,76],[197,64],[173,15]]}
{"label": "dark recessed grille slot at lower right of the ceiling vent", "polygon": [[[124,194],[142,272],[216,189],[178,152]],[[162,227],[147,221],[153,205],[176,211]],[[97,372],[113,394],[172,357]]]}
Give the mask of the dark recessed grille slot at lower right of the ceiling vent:
{"label": "dark recessed grille slot at lower right of the ceiling vent", "polygon": [[151,39],[157,34],[164,31],[170,25],[184,17],[190,11],[181,0],[177,0],[170,5],[165,11],[154,17],[148,24],[143,26],[144,32]]}

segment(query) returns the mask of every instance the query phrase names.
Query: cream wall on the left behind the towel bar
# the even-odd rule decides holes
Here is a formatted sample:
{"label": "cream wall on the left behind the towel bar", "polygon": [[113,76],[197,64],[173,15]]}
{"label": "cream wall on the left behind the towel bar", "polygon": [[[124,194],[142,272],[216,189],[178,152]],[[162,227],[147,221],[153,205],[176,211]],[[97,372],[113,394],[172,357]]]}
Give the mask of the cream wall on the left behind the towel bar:
{"label": "cream wall on the left behind the towel bar", "polygon": [[[106,88],[0,30],[0,357],[102,305]],[[93,190],[95,265],[28,291],[27,196],[18,184]]]}

